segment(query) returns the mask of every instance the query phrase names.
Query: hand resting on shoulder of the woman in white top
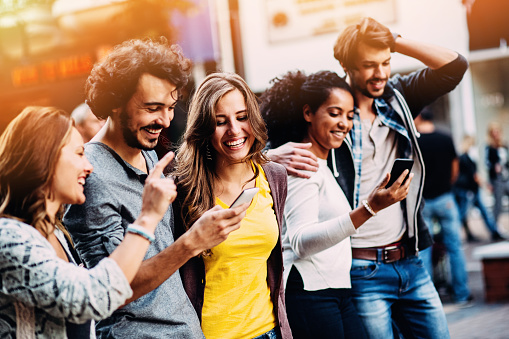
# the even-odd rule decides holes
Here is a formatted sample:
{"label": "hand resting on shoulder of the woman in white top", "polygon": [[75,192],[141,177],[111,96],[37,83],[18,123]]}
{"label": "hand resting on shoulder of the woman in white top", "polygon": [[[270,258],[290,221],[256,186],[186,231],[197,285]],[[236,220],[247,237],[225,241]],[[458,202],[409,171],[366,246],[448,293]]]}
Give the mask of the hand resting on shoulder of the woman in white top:
{"label": "hand resting on shoulder of the woman in white top", "polygon": [[317,157],[308,150],[311,145],[310,142],[287,142],[278,148],[269,150],[267,156],[271,161],[283,165],[288,174],[301,178],[309,178],[309,174],[305,171],[318,171]]}

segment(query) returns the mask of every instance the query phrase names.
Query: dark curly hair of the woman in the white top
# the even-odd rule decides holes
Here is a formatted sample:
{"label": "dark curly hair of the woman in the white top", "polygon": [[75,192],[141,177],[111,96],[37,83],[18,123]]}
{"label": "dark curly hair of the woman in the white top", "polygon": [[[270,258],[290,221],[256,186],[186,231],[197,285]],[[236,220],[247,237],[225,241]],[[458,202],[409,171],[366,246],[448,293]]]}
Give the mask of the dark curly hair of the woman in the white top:
{"label": "dark curly hair of the woman in the white top", "polygon": [[260,110],[267,123],[271,148],[289,141],[301,142],[308,123],[302,108],[309,105],[313,113],[328,99],[333,88],[348,91],[355,98],[344,78],[334,72],[320,71],[306,76],[302,71],[288,72],[271,80],[272,87],[260,96]]}

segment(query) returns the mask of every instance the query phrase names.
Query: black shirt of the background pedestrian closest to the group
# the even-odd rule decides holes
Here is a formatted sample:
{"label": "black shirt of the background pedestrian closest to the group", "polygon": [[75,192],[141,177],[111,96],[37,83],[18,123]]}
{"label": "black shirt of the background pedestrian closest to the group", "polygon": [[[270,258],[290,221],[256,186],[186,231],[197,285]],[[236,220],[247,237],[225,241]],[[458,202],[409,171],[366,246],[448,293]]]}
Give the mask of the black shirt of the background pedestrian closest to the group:
{"label": "black shirt of the background pedestrian closest to the group", "polygon": [[457,157],[452,138],[440,131],[421,133],[418,139],[422,152],[426,178],[424,181],[424,199],[433,199],[450,192],[451,167]]}

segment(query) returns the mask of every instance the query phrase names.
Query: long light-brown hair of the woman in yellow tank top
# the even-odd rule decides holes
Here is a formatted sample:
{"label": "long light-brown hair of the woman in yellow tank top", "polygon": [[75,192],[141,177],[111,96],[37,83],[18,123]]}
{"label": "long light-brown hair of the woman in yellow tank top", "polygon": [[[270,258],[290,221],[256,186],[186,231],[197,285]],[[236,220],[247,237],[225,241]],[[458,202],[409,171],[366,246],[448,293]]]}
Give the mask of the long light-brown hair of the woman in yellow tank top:
{"label": "long light-brown hair of the woman in yellow tank top", "polygon": [[[216,129],[216,107],[227,93],[239,90],[246,101],[247,117],[255,141],[243,161],[255,164],[267,162],[262,150],[267,142],[267,128],[260,114],[258,100],[246,82],[237,74],[213,73],[207,76],[194,94],[182,144],[177,151],[174,176],[182,202],[182,219],[188,229],[198,218],[215,205],[214,149],[210,139]],[[208,153],[208,154],[207,154]],[[254,178],[259,174],[255,166]],[[177,212],[178,213],[178,212]]]}

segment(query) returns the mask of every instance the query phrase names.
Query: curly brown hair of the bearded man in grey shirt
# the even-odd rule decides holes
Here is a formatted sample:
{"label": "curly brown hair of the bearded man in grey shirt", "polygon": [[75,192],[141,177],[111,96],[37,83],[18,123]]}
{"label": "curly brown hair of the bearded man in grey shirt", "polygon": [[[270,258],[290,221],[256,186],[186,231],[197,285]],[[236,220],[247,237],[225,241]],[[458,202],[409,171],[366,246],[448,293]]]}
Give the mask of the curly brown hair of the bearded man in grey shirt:
{"label": "curly brown hair of the bearded man in grey shirt", "polygon": [[87,104],[98,118],[106,119],[127,104],[144,73],[168,80],[178,91],[187,84],[190,71],[191,61],[180,46],[164,37],[124,41],[94,65],[85,84]]}

